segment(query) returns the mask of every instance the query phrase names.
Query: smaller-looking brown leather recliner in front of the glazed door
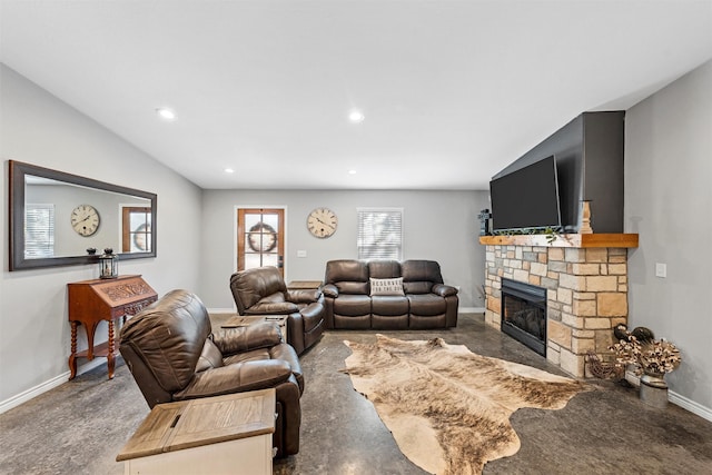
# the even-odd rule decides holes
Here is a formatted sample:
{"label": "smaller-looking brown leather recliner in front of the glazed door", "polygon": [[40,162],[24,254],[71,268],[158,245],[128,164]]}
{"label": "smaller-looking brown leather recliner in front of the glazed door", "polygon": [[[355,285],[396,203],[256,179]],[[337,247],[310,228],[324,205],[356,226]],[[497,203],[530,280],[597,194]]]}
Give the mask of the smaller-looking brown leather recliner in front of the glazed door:
{"label": "smaller-looking brown leather recliner in front of the glazed door", "polygon": [[287,289],[276,267],[233,274],[230,290],[240,315],[287,315],[288,342],[297,355],[317,343],[324,333],[322,290]]}

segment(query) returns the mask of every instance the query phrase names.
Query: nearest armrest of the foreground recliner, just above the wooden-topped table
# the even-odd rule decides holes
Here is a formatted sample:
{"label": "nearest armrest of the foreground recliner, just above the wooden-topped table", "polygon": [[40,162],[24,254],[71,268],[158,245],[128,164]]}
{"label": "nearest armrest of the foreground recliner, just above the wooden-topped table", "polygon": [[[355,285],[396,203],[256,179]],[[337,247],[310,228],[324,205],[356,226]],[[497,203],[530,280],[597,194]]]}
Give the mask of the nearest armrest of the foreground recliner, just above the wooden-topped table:
{"label": "nearest armrest of the foreground recliner, just above the wooden-topped table", "polygon": [[290,377],[289,364],[279,359],[235,363],[196,373],[185,389],[174,394],[174,400],[266,389]]}

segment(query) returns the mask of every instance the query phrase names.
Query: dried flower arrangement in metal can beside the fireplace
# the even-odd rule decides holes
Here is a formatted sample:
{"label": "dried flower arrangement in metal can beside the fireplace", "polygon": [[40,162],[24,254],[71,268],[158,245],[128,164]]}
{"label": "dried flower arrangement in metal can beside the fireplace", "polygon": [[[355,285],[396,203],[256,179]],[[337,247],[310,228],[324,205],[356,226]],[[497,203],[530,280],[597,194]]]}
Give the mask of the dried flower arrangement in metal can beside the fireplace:
{"label": "dried flower arrangement in metal can beside the fireplace", "polygon": [[616,365],[624,368],[634,365],[635,374],[641,377],[641,399],[664,407],[668,404],[665,375],[680,366],[680,349],[664,338],[655,339],[653,333],[644,327],[627,333],[625,326],[620,325],[614,334],[619,343],[609,349],[615,352]]}

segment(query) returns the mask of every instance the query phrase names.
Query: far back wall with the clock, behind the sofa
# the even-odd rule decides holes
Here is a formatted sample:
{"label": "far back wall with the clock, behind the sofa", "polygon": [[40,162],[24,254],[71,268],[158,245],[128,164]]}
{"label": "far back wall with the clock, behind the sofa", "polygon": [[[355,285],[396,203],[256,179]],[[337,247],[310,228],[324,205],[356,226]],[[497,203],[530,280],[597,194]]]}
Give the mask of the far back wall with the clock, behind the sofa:
{"label": "far back wall with the clock, behind the sofa", "polygon": [[[229,288],[236,264],[236,207],[285,207],[285,277],[323,279],[326,261],[356,258],[356,208],[403,208],[404,259],[432,259],[441,265],[445,283],[461,286],[461,307],[484,307],[484,246],[478,244],[477,215],[490,208],[486,191],[300,191],[206,190],[202,214],[200,295],[214,309],[230,309]],[[306,227],[309,211],[327,207],[338,217],[328,239],[313,237]],[[306,250],[307,257],[297,257]]]}

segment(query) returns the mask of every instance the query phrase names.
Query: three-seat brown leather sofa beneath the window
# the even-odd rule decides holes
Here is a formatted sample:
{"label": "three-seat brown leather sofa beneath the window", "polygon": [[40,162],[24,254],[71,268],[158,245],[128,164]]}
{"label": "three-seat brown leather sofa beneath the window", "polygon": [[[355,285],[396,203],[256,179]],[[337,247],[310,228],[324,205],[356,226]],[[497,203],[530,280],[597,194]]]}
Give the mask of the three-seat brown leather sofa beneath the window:
{"label": "three-seat brown leather sofa beneath the window", "polygon": [[[375,291],[377,280],[400,281],[393,293]],[[457,289],[445,285],[434,260],[329,260],[324,286],[326,327],[422,329],[457,325]],[[372,295],[374,294],[374,295]],[[390,294],[390,295],[387,295]]]}

